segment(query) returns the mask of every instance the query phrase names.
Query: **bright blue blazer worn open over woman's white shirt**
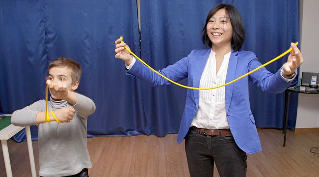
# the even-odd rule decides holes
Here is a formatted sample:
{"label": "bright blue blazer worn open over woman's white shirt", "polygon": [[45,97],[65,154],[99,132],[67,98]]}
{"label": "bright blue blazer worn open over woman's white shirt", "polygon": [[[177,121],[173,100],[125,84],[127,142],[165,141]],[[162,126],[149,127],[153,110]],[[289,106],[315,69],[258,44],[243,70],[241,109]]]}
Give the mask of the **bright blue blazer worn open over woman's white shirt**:
{"label": "bright blue blazer worn open over woman's white shirt", "polygon": [[[187,78],[188,86],[199,88],[201,75],[210,51],[211,48],[193,50],[187,57],[158,71],[176,82]],[[228,64],[226,83],[246,74],[260,65],[261,63],[253,52],[232,50]],[[230,130],[239,148],[249,154],[261,151],[262,147],[255,125],[255,119],[250,110],[248,82],[249,80],[252,81],[263,91],[269,93],[280,93],[288,87],[297,84],[298,77],[291,83],[288,83],[282,79],[280,70],[281,68],[275,74],[272,74],[263,67],[239,81],[225,86],[225,114]],[[136,60],[133,67],[126,72],[152,86],[172,84],[147,68],[139,60]],[[198,104],[199,90],[187,89],[185,108],[177,137],[178,143],[181,143],[185,138],[189,126],[198,110]]]}

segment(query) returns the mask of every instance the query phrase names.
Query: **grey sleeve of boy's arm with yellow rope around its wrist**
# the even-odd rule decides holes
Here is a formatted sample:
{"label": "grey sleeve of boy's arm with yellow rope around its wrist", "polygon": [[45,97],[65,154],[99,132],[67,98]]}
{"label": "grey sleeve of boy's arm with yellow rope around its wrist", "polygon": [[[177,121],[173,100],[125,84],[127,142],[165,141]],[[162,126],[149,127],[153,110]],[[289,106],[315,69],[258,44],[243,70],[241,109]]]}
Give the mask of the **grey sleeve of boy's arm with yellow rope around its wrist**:
{"label": "grey sleeve of boy's arm with yellow rope around its wrist", "polygon": [[45,111],[45,100],[39,100],[15,111],[11,116],[11,123],[16,126],[36,125],[35,117],[41,111]]}

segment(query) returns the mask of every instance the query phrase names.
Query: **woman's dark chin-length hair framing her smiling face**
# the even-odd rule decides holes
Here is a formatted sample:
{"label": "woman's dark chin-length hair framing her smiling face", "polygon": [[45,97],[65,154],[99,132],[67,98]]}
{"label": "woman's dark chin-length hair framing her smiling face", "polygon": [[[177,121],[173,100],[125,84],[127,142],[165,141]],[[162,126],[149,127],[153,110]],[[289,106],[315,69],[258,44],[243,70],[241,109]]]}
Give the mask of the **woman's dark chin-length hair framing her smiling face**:
{"label": "woman's dark chin-length hair framing her smiling face", "polygon": [[232,37],[232,48],[234,51],[238,51],[241,49],[241,46],[245,40],[245,29],[244,25],[242,23],[241,16],[238,12],[238,10],[230,4],[219,4],[216,5],[211,9],[211,11],[208,13],[207,18],[206,18],[206,23],[205,27],[202,30],[202,41],[203,44],[207,47],[212,47],[212,41],[207,35],[207,24],[208,21],[211,19],[213,14],[215,14],[219,9],[225,8],[227,17],[229,17],[230,22],[233,27],[233,37]]}

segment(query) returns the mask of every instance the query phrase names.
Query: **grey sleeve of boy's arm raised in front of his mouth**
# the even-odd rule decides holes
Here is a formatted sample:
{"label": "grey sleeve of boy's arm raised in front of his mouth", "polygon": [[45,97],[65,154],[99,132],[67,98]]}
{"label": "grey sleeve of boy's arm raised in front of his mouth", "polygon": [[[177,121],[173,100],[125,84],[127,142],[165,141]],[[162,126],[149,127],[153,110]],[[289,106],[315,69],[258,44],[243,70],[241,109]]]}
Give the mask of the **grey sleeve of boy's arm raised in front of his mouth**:
{"label": "grey sleeve of boy's arm raised in front of his mouth", "polygon": [[95,104],[93,100],[79,93],[76,93],[76,95],[77,103],[73,106],[73,108],[78,112],[80,117],[84,118],[93,114],[95,111]]}

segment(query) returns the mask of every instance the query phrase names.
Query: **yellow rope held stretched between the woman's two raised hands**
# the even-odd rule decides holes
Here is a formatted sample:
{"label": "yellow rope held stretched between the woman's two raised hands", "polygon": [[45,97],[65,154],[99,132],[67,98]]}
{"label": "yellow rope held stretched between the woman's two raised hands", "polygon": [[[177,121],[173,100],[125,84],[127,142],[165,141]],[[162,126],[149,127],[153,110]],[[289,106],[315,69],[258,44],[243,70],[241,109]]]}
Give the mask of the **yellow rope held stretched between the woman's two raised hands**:
{"label": "yellow rope held stretched between the woman's two raised hands", "polygon": [[[123,37],[120,36],[120,38],[121,38],[121,43],[123,43]],[[295,44],[298,45],[298,42],[296,42]],[[270,64],[270,63],[272,63],[272,62],[274,62],[275,60],[282,58],[283,56],[287,55],[288,53],[290,53],[290,52],[292,51],[292,47],[290,47],[290,49],[288,49],[286,52],[282,53],[282,54],[279,55],[278,57],[276,57],[276,58],[274,58],[274,59],[271,59],[270,61],[266,62],[265,64],[263,64],[263,65],[261,65],[261,66],[259,66],[259,67],[257,67],[256,69],[254,69],[254,70],[252,70],[252,71],[250,71],[250,72],[248,72],[248,73],[246,73],[246,74],[240,76],[239,78],[237,78],[237,79],[235,79],[235,80],[233,80],[233,81],[230,81],[230,82],[228,82],[228,83],[226,83],[226,84],[223,84],[223,85],[220,85],[220,86],[216,86],[216,87],[212,87],[212,88],[194,88],[194,87],[184,86],[184,85],[182,85],[182,84],[179,84],[179,83],[177,83],[177,82],[174,82],[174,81],[168,79],[167,77],[165,77],[165,76],[163,76],[162,74],[160,74],[157,70],[155,70],[155,69],[153,69],[151,66],[149,66],[149,65],[148,65],[146,62],[144,62],[142,59],[140,59],[139,57],[137,57],[129,48],[127,48],[126,46],[124,46],[124,48],[125,48],[126,50],[128,50],[136,59],[140,60],[140,61],[141,61],[143,64],[145,64],[148,68],[150,68],[152,71],[156,72],[156,73],[159,74],[161,77],[163,77],[164,79],[168,80],[169,82],[171,82],[171,83],[173,83],[173,84],[176,84],[176,85],[178,85],[178,86],[180,86],[180,87],[186,88],[186,89],[196,89],[196,90],[217,89],[217,88],[220,88],[220,87],[223,87],[223,86],[230,85],[230,84],[232,84],[232,83],[238,81],[239,79],[241,79],[241,78],[243,78],[243,77],[245,77],[245,76],[247,76],[247,75],[249,75],[249,74],[251,74],[251,73],[257,71],[258,69],[260,69],[260,68],[262,68],[262,67],[264,67],[264,66],[266,66],[266,65],[268,65],[268,64]]]}

